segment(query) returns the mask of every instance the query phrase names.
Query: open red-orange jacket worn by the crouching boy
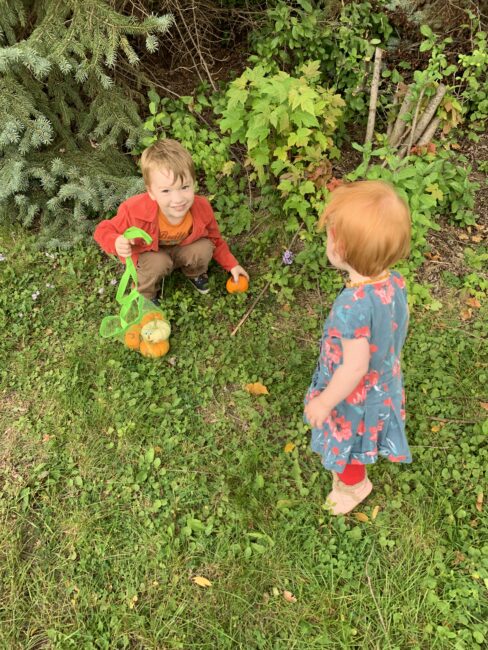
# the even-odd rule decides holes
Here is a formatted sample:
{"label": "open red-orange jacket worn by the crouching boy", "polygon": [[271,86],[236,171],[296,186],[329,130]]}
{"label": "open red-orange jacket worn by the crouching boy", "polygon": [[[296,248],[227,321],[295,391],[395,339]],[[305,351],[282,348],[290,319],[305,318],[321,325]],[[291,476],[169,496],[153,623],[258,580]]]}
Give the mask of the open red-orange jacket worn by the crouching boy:
{"label": "open red-orange jacket worn by the crouching boy", "polygon": [[[226,271],[230,271],[239,262],[232,255],[227,243],[222,239],[212,207],[206,198],[195,195],[190,208],[193,217],[193,228],[179,246],[187,246],[197,239],[210,239],[214,244],[213,258]],[[143,239],[136,239],[132,246],[132,260],[137,264],[139,253],[157,251],[159,248],[158,204],[147,192],[136,194],[120,204],[117,214],[112,219],[101,221],[95,228],[93,237],[109,255],[116,255],[115,240],[127,228],[136,226],[145,230],[152,237],[152,243],[146,244]]]}

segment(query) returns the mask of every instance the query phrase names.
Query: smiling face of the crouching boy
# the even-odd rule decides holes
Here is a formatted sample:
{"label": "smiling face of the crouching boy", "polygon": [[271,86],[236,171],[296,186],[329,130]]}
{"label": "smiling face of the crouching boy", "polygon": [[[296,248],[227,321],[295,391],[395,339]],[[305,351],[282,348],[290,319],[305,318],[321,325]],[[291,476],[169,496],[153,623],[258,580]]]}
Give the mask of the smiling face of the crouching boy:
{"label": "smiling face of the crouching boy", "polygon": [[151,199],[156,201],[161,212],[174,226],[183,221],[195,198],[193,179],[190,174],[180,181],[175,179],[171,170],[164,168],[151,171],[150,183],[146,189]]}

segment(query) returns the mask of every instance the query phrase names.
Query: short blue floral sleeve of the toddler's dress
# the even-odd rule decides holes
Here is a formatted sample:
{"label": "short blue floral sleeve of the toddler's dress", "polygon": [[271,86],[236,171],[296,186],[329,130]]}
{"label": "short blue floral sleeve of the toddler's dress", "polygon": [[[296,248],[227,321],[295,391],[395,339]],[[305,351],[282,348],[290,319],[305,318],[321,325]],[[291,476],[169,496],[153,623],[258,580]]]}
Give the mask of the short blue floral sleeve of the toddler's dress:
{"label": "short blue floral sleeve of the toddler's dress", "polygon": [[366,338],[370,343],[371,320],[369,299],[346,291],[334,305],[328,334],[343,339]]}

